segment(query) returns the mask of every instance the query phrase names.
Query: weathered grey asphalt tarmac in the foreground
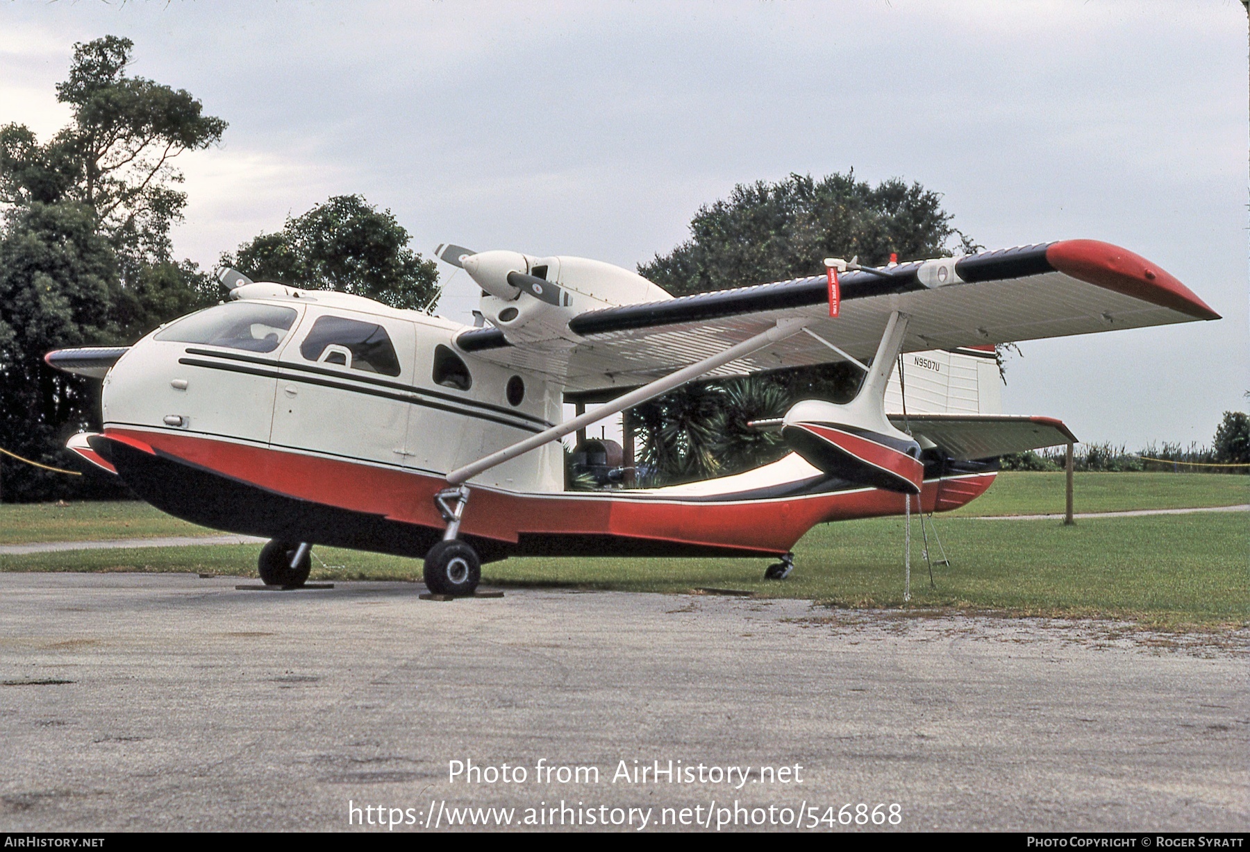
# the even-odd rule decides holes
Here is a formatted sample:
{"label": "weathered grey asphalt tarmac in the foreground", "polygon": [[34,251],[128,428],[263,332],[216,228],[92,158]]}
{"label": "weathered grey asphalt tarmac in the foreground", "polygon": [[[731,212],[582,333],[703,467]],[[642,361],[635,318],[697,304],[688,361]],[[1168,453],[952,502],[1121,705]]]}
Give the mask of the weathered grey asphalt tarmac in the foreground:
{"label": "weathered grey asphalt tarmac in the foreground", "polygon": [[1250,825],[1245,636],[239,582],[0,575],[0,830]]}

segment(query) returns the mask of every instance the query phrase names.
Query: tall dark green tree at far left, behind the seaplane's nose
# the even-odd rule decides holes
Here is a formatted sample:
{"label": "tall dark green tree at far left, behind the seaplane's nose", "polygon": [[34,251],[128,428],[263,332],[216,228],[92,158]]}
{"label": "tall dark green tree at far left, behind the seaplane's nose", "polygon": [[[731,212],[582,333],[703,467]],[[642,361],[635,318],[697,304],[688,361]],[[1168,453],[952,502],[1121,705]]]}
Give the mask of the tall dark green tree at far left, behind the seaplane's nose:
{"label": "tall dark green tree at far left, behind the seaplane's nose", "polygon": [[[215,290],[171,256],[186,195],[180,154],[221,137],[184,90],[126,74],[132,42],[76,44],[56,97],[71,121],[46,142],[0,127],[0,446],[65,466],[65,437],[98,426],[99,382],[49,369],[52,349],[129,344]],[[116,495],[108,478],[68,478],[5,462],[5,500]]]}

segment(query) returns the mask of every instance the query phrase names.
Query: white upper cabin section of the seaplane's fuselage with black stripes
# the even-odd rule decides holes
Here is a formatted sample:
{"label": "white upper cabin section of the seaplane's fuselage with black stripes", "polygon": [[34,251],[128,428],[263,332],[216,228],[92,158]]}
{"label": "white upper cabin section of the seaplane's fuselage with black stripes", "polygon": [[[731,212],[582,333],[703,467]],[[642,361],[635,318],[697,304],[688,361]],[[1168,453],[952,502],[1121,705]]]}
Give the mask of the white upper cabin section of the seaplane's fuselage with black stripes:
{"label": "white upper cabin section of the seaplane's fuselage with black stripes", "polygon": [[[289,329],[250,324],[242,339],[178,340],[211,337],[180,332],[188,320],[249,309],[294,316]],[[370,364],[359,346],[354,356],[354,335],[369,327],[385,332],[394,360],[384,355]],[[455,352],[451,339],[464,327],[336,292],[228,302],[162,326],[126,352],[105,379],[105,426],[184,431],[444,473],[561,419],[560,391],[541,377]],[[334,332],[342,329],[335,342]],[[379,336],[372,337],[376,351]],[[475,481],[561,491],[560,445]]]}

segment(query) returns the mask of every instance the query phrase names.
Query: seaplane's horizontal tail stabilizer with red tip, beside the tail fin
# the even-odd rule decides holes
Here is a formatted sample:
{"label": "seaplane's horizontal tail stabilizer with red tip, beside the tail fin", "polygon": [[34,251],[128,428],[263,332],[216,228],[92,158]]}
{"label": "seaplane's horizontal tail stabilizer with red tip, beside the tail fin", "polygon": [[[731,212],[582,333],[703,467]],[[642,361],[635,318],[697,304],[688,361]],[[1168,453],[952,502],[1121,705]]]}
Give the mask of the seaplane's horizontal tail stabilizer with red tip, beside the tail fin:
{"label": "seaplane's horizontal tail stabilizer with red tip, beside the tail fin", "polygon": [[910,415],[904,419],[902,415],[890,415],[890,422],[899,428],[910,428],[918,440],[928,438],[958,461],[994,458],[1076,442],[1068,426],[1054,417],[961,414]]}

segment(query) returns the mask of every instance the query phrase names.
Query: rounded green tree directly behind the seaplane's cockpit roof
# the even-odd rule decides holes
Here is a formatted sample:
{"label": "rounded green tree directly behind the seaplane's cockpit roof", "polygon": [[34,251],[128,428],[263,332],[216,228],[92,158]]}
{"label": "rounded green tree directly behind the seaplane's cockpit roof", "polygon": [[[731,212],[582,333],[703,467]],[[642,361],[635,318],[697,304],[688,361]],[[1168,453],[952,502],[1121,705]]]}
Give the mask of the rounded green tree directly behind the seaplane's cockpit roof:
{"label": "rounded green tree directly behind the seaplane's cockpit roof", "polygon": [[392,307],[421,310],[438,299],[432,260],[408,247],[409,232],[390,210],[359,195],[339,195],[278,234],[261,234],[221,256],[221,265],[254,280],[310,290],[339,290]]}

